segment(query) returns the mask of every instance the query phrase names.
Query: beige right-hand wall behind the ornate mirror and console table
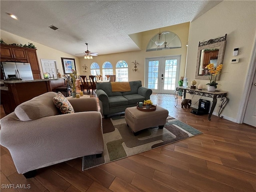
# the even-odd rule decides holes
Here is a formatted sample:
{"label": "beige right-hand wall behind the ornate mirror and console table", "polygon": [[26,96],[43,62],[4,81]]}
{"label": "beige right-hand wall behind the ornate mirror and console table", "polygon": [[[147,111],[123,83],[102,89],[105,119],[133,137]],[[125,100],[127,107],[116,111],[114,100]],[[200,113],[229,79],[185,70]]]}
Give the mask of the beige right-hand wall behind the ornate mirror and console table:
{"label": "beige right-hand wall behind the ornate mirror and console table", "polygon": [[[238,118],[239,104],[244,99],[242,95],[256,37],[255,31],[255,1],[223,1],[190,23],[186,68],[188,82],[195,79],[198,42],[204,42],[227,34],[224,66],[218,81],[220,84],[218,89],[228,91],[230,102],[224,109],[223,115],[224,118],[234,122]],[[234,48],[239,48],[238,56],[233,56]],[[239,63],[231,63],[234,58],[240,58]],[[208,80],[196,79],[196,81],[197,85],[199,83],[203,85],[208,83]],[[194,96],[192,104],[199,98],[199,96]],[[210,98],[204,99],[211,100]],[[220,105],[220,99],[218,100],[214,110],[216,113]]]}

